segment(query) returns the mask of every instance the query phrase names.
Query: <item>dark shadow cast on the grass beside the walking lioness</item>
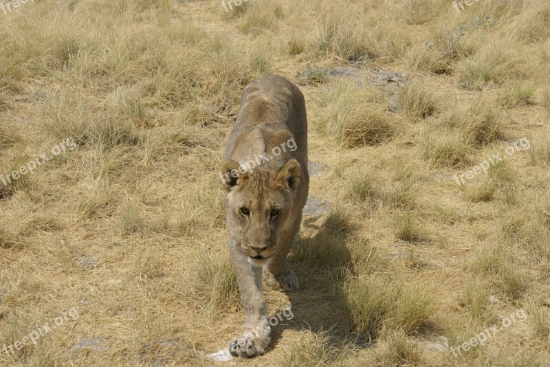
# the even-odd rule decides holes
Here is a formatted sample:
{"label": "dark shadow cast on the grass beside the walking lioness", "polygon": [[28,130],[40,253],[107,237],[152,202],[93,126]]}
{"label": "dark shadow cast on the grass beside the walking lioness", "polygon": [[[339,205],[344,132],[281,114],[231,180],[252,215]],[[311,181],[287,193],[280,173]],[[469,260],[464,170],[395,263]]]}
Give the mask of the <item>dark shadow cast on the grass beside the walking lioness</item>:
{"label": "dark shadow cast on the grass beside the walking lioness", "polygon": [[[354,271],[347,242],[356,227],[339,210],[329,212],[321,225],[315,225],[309,218],[303,225],[316,232],[297,238],[289,257],[290,266],[300,280],[300,290],[287,293],[293,317],[277,320],[272,326],[270,350],[276,348],[286,330],[322,333],[329,347],[354,344],[364,348],[368,341],[351,333],[349,305],[342,288],[345,274]],[[282,315],[283,311],[274,315]]]}

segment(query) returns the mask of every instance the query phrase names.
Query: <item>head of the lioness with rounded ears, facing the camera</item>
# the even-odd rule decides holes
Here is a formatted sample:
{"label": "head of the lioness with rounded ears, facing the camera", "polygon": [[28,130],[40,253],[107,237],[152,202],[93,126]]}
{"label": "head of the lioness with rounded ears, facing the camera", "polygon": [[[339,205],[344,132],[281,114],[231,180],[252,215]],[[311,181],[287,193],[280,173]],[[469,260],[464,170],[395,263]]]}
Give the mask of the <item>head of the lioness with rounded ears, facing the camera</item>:
{"label": "head of the lioness with rounded ears, facing the camera", "polygon": [[[222,173],[234,172],[238,166],[225,162]],[[300,164],[292,159],[278,172],[257,169],[224,183],[229,223],[239,230],[241,249],[250,258],[262,261],[276,252],[277,236],[292,211],[299,177]]]}

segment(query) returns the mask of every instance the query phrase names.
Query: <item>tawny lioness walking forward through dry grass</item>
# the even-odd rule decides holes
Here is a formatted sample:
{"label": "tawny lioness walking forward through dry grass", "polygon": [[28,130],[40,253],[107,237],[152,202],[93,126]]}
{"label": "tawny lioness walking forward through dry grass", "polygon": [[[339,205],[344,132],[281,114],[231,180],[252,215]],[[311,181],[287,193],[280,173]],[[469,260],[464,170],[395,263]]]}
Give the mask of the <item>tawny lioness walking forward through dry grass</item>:
{"label": "tawny lioness walking forward through dry grass", "polygon": [[281,76],[243,90],[221,168],[229,254],[245,309],[244,331],[232,355],[252,357],[270,343],[262,276],[270,287],[296,291],[287,254],[307,200],[307,117],[304,96]]}

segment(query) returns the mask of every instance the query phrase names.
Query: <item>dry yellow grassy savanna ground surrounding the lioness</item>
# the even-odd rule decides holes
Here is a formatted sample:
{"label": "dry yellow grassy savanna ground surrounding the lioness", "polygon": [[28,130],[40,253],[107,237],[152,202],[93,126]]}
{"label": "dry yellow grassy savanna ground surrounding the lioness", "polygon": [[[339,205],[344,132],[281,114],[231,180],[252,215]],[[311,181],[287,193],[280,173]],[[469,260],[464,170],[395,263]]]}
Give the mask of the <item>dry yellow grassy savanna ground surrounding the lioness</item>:
{"label": "dry yellow grassy savanna ground surrounding the lioness", "polygon": [[309,115],[301,289],[264,290],[294,318],[225,364],[549,366],[550,3],[232,8],[0,10],[0,365],[214,364],[243,322],[222,151],[243,87],[280,74]]}

